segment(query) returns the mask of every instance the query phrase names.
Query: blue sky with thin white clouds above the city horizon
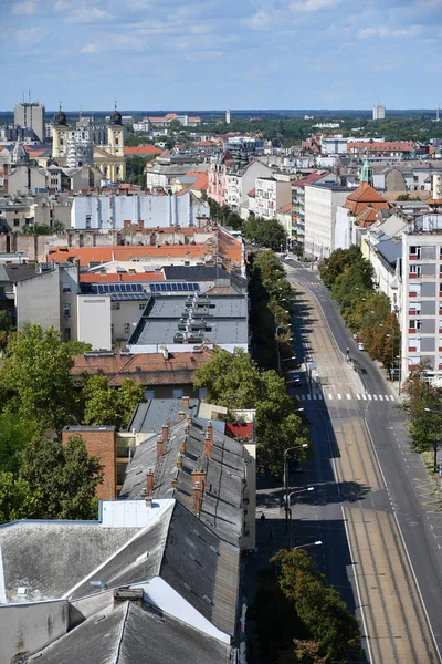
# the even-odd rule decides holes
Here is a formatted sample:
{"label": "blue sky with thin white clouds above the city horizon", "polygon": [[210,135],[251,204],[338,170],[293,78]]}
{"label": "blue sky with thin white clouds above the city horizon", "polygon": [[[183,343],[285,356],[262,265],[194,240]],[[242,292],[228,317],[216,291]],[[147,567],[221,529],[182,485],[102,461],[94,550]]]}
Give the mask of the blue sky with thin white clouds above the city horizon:
{"label": "blue sky with thin white clouds above the city horizon", "polygon": [[442,0],[1,0],[0,110],[442,106]]}

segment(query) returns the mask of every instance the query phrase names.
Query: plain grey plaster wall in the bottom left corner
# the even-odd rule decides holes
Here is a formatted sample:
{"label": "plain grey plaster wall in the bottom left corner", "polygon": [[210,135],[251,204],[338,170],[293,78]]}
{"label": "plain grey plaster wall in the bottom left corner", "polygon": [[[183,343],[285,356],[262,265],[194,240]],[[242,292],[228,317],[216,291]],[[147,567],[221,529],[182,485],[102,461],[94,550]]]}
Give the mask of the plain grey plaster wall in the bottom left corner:
{"label": "plain grey plaster wall in the bottom left corner", "polygon": [[[0,601],[6,601],[0,598]],[[56,600],[0,606],[0,664],[24,662],[67,632],[69,602]],[[22,654],[23,658],[15,658]]]}

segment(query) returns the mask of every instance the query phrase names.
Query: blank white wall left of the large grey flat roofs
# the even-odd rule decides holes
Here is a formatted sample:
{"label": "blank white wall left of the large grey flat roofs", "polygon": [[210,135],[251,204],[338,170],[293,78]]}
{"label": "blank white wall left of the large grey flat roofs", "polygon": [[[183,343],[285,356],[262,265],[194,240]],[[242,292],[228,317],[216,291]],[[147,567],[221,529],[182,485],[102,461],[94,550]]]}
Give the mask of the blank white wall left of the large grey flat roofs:
{"label": "blank white wall left of the large grey flat roofs", "polygon": [[77,317],[78,341],[90,343],[94,351],[110,351],[110,298],[106,295],[78,295]]}

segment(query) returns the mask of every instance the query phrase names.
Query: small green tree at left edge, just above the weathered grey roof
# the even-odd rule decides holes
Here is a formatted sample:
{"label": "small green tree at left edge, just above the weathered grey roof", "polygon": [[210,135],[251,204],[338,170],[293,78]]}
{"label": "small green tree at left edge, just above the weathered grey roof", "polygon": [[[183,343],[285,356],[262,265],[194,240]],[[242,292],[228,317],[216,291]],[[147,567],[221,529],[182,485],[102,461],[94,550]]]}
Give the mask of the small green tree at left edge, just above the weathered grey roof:
{"label": "small green tree at left edge, just above the weathered grey roof", "polygon": [[40,498],[25,479],[0,473],[0,522],[39,518]]}

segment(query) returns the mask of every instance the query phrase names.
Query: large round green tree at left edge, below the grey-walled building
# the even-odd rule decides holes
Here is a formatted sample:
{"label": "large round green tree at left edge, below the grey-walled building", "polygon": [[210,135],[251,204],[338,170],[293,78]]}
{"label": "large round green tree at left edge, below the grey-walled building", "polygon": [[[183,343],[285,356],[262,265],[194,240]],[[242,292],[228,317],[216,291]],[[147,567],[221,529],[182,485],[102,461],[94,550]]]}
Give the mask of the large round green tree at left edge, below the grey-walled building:
{"label": "large round green tree at left edge, below the grey-walled building", "polygon": [[0,372],[9,396],[6,411],[34,422],[39,430],[60,430],[77,403],[72,366],[69,347],[53,328],[29,325],[10,335]]}

